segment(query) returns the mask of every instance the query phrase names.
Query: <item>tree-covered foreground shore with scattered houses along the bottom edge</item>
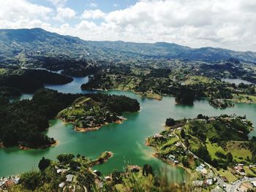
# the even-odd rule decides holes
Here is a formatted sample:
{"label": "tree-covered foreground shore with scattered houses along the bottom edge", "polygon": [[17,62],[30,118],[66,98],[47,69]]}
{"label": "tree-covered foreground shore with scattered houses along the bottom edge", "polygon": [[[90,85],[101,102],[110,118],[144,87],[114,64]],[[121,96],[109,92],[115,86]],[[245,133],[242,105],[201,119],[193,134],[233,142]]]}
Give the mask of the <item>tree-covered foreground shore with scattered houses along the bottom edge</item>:
{"label": "tree-covered foreground shore with scattered houses along the bottom edge", "polygon": [[113,156],[111,152],[102,153],[99,158],[91,160],[84,155],[63,153],[57,156],[58,161],[42,157],[39,171],[25,172],[15,177],[1,178],[4,185],[1,190],[7,191],[189,191],[187,183],[168,181],[167,171],[154,174],[152,166],[143,167],[127,164],[123,171],[113,170],[103,175],[93,169],[95,164],[104,164]]}

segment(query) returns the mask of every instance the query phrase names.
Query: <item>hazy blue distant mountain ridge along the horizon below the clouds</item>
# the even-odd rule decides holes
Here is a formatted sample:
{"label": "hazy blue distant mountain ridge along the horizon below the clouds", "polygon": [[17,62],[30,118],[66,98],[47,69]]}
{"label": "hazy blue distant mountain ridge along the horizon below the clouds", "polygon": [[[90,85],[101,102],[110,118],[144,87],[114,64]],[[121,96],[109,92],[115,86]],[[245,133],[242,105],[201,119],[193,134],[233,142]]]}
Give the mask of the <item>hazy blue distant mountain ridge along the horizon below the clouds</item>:
{"label": "hazy blue distant mountain ridge along the horizon below the clouds", "polygon": [[[85,41],[63,36],[42,28],[0,29],[1,64],[17,63],[42,53],[50,57],[86,59],[167,58],[201,61],[219,61],[238,58],[256,64],[256,53],[238,52],[214,47],[191,48],[174,43],[135,43]],[[25,55],[25,56],[24,56]]]}

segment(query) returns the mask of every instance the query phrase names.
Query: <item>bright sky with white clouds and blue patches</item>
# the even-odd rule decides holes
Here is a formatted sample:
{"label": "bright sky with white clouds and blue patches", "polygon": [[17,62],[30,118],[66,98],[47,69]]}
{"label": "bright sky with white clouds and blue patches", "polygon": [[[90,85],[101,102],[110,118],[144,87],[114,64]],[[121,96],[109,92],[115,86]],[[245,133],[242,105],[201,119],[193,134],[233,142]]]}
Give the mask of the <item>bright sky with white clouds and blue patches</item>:
{"label": "bright sky with white clouds and blue patches", "polygon": [[0,0],[0,28],[256,52],[256,0]]}

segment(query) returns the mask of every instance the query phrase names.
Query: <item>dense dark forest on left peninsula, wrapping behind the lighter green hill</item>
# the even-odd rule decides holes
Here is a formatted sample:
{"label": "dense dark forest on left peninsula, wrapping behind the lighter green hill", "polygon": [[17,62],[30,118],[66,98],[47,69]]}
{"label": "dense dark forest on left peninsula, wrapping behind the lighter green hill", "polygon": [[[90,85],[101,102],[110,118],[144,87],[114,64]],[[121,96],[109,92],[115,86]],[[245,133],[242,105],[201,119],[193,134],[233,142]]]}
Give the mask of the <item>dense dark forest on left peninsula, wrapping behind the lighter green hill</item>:
{"label": "dense dark forest on left peninsula, wrapping behind the lighter green hill", "polygon": [[68,107],[80,96],[89,96],[95,101],[108,105],[116,113],[134,112],[140,109],[135,99],[127,96],[105,94],[64,94],[48,89],[35,93],[33,99],[16,101],[0,108],[0,142],[4,146],[48,147],[55,141],[42,134],[48,128],[48,120],[55,118],[59,111]]}

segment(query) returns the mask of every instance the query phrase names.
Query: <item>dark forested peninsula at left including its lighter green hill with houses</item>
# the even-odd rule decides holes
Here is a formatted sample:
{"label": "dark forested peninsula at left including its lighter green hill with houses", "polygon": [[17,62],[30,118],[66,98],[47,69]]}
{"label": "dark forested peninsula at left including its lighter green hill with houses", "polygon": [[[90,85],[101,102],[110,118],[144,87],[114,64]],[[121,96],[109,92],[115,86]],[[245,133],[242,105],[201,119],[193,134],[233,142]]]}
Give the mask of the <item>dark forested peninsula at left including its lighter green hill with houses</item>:
{"label": "dark forested peninsula at left including its lighter green hill with houses", "polygon": [[[86,102],[87,99],[90,102]],[[74,101],[75,106],[78,105],[78,102],[80,104],[85,102],[86,105],[81,105],[78,108],[74,107],[74,110],[64,110],[72,105]],[[88,106],[89,108],[87,108]],[[86,119],[83,118],[85,115],[91,114],[91,109],[94,116],[90,120],[99,126],[105,122],[111,123],[119,120],[120,118],[117,115],[121,115],[122,112],[140,110],[140,104],[137,100],[130,99],[127,96],[111,96],[100,93],[65,94],[41,89],[34,94],[31,100],[8,102],[1,105],[0,146],[12,147],[18,145],[20,149],[30,149],[57,145],[58,142],[55,139],[43,134],[43,131],[46,131],[49,127],[48,120],[56,118],[58,113],[57,118],[62,117],[69,120],[69,112],[73,112],[75,113],[72,113],[73,115],[77,115],[75,118],[78,118],[78,126],[86,126],[86,121],[83,121]]]}

